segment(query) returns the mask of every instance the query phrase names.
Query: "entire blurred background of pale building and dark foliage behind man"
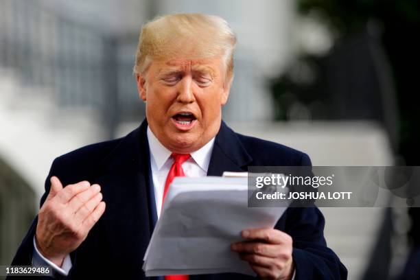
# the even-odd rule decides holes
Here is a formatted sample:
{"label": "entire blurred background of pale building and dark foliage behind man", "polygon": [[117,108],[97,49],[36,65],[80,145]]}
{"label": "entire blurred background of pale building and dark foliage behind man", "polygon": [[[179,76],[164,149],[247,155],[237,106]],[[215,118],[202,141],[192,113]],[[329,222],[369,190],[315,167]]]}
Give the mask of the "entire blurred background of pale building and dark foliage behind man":
{"label": "entire blurred background of pale building and dark foliage behind man", "polygon": [[[143,23],[173,12],[229,22],[224,120],[237,132],[313,165],[420,165],[419,11],[416,0],[0,0],[0,264],[54,158],[143,120],[132,76]],[[420,279],[418,209],[321,210],[349,279]]]}

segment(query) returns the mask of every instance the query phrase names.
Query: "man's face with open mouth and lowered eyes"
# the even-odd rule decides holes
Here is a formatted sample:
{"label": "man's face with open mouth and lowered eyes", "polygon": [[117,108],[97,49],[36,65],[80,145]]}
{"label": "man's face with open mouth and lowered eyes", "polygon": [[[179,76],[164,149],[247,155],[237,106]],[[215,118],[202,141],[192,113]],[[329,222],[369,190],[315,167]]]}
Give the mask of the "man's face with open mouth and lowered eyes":
{"label": "man's face with open mouth and lowered eyes", "polygon": [[194,152],[215,137],[230,85],[221,57],[154,60],[137,75],[150,129],[177,153]]}

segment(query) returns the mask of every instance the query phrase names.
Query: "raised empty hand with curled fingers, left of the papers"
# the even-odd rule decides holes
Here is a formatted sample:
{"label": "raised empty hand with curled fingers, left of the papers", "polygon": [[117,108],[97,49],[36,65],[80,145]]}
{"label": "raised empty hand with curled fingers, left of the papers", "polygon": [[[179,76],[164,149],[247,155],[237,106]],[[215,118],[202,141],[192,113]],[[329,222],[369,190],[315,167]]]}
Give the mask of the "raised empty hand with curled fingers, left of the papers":
{"label": "raised empty hand with curled fingers, left of the papers", "polygon": [[36,246],[40,253],[62,265],[65,256],[78,248],[105,211],[100,185],[82,181],[62,187],[56,176],[38,213]]}

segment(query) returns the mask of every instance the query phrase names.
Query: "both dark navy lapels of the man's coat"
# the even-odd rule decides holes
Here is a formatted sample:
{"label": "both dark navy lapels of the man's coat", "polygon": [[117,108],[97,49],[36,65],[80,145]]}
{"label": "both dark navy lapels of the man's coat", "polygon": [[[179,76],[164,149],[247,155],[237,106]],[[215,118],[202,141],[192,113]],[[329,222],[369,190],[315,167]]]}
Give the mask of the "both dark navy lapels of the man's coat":
{"label": "both dark navy lapels of the man's coat", "polygon": [[[147,126],[147,121],[143,121],[121,139],[104,159],[102,176],[93,182],[102,186],[106,211],[101,220],[113,259],[128,264],[143,263],[156,217]],[[207,175],[243,172],[251,161],[235,132],[222,122]]]}

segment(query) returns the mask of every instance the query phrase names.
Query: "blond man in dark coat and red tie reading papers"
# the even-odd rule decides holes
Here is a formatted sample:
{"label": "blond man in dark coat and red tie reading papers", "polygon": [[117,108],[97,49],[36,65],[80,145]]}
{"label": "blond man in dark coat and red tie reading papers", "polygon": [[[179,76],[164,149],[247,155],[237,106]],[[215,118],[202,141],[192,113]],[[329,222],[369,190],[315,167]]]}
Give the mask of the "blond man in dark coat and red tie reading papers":
{"label": "blond man in dark coat and red tie reading papers", "polygon": [[[238,135],[222,121],[235,42],[217,16],[174,14],[146,24],[134,68],[145,121],[126,137],[54,161],[38,217],[12,264],[49,264],[56,277],[69,279],[144,279],[143,255],[174,176],[310,165],[306,154]],[[275,229],[244,229],[246,241],[231,250],[263,279],[345,279],[323,227],[315,207],[290,208]],[[165,277],[188,278],[250,277]]]}

